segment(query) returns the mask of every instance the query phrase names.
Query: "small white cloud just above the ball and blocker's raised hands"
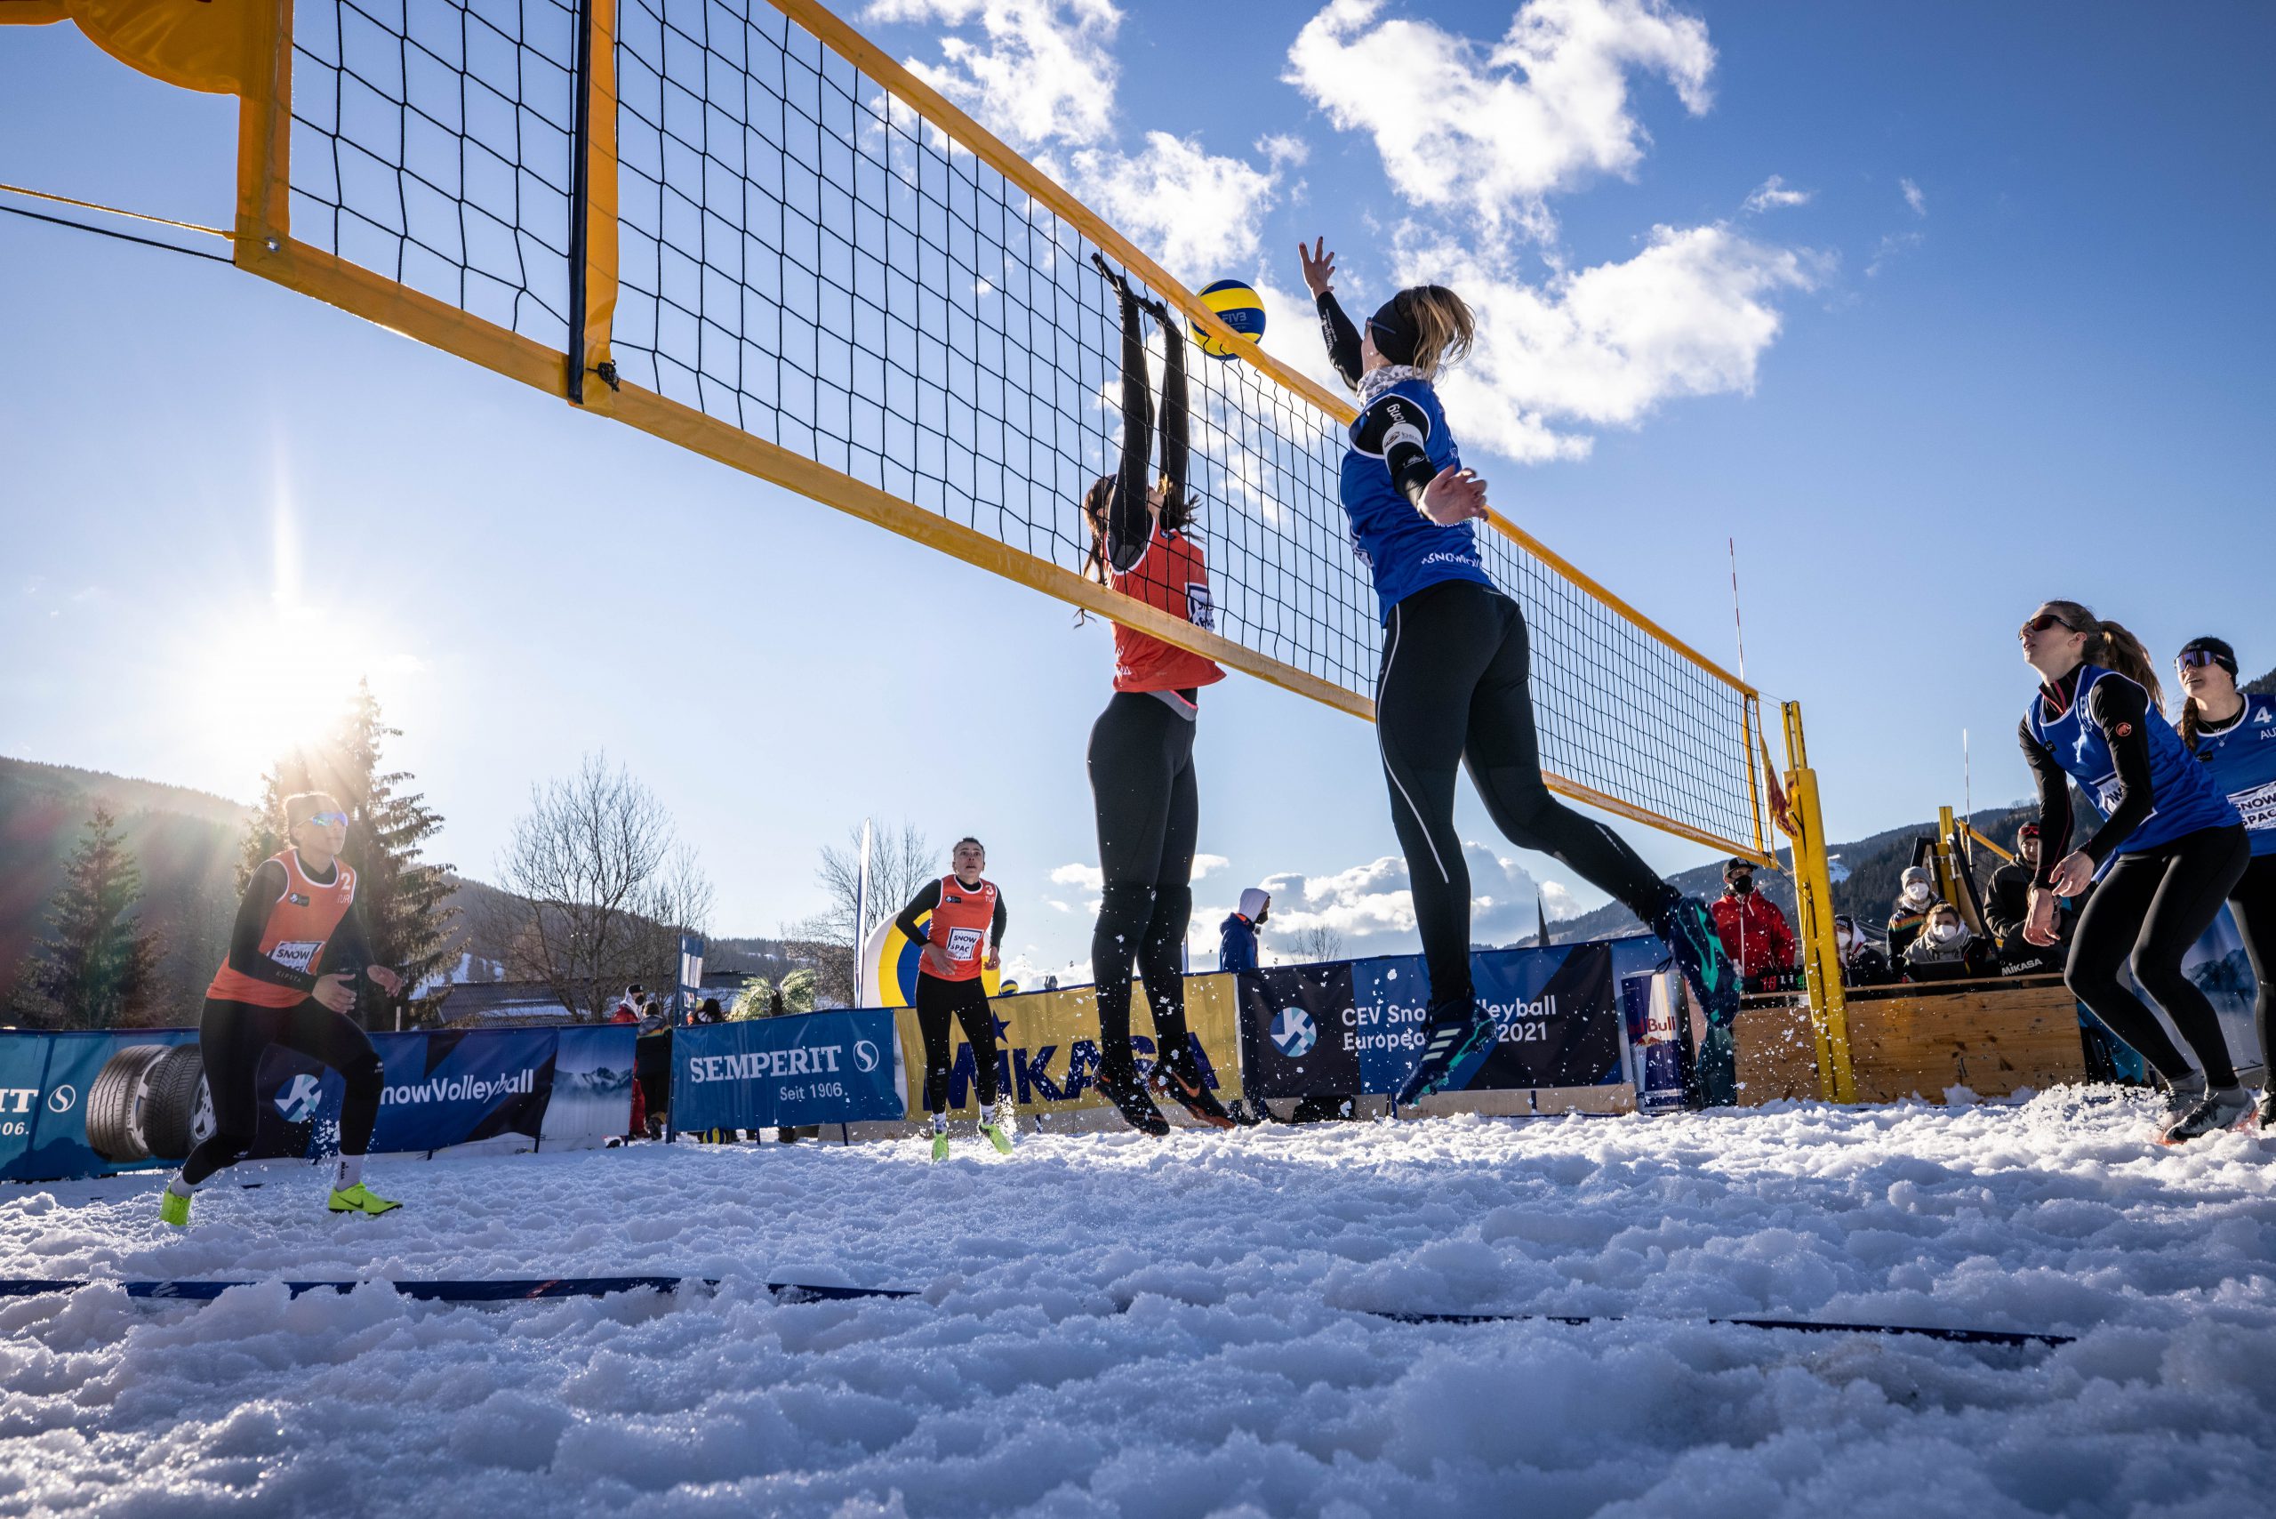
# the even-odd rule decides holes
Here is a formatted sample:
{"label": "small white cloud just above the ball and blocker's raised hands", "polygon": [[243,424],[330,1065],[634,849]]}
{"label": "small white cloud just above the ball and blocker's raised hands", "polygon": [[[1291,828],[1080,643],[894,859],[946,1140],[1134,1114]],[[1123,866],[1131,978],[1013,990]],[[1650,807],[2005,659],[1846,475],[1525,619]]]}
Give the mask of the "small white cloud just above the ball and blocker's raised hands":
{"label": "small white cloud just above the ball and blocker's raised hands", "polygon": [[1277,171],[1170,132],[1147,132],[1138,155],[1083,148],[1072,166],[1079,194],[1188,285],[1206,285],[1261,251],[1259,223],[1272,210]]}

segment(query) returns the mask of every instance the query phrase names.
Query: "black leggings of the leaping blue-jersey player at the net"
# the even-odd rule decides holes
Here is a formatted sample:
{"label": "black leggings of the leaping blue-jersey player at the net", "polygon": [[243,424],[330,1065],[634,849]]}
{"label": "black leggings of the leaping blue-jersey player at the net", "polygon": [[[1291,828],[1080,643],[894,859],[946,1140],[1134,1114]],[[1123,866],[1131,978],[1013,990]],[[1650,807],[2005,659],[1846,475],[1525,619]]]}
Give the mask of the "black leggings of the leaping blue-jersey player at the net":
{"label": "black leggings of the leaping blue-jersey player at the net", "polygon": [[1627,840],[1543,786],[1525,615],[1502,592],[1441,581],[1391,608],[1375,736],[1434,1004],[1470,1002],[1470,868],[1454,831],[1457,765],[1468,767],[1509,843],[1548,854],[1646,925],[1666,906],[1668,886]]}

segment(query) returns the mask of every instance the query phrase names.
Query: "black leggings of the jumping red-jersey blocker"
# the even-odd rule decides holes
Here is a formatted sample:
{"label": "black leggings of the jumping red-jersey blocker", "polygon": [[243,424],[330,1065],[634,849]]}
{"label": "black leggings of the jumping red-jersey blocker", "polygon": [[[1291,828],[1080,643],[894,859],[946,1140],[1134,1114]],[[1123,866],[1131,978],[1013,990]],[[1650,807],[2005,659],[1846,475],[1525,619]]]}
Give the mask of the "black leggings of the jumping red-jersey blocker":
{"label": "black leggings of the jumping red-jersey blocker", "polygon": [[[1174,692],[1172,692],[1174,697]],[[1193,845],[1202,799],[1193,781],[1193,717],[1149,692],[1118,690],[1090,724],[1090,797],[1099,813],[1099,922],[1090,977],[1099,997],[1099,1054],[1131,1057],[1131,961],[1145,977],[1163,1054],[1186,1048],[1179,950],[1193,920]]]}

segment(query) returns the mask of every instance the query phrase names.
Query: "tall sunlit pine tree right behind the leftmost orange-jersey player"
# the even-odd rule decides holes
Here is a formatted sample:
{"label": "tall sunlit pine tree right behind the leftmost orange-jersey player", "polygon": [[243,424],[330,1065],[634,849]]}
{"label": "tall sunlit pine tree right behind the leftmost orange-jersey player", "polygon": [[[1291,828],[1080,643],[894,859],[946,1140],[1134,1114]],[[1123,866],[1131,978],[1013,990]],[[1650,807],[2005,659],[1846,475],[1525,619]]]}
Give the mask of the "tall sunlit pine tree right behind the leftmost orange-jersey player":
{"label": "tall sunlit pine tree right behind the leftmost orange-jersey player", "polygon": [[[426,804],[423,793],[401,790],[412,779],[407,770],[380,767],[385,740],[401,736],[403,729],[387,726],[380,715],[371,685],[360,681],[355,701],[330,738],[312,749],[294,749],[264,777],[262,806],[246,824],[237,861],[237,888],[241,893],[259,863],[287,847],[284,797],[330,793],[348,813],[348,843],[339,856],[360,877],[355,911],[364,920],[371,952],[419,986],[457,959],[451,950],[457,911],[448,904],[451,868],[421,859],[423,843],[442,829],[442,813]],[[412,1002],[412,1016],[432,1020],[448,993],[448,982],[439,984]],[[380,991],[366,982],[360,995],[364,1023],[380,1023]]]}

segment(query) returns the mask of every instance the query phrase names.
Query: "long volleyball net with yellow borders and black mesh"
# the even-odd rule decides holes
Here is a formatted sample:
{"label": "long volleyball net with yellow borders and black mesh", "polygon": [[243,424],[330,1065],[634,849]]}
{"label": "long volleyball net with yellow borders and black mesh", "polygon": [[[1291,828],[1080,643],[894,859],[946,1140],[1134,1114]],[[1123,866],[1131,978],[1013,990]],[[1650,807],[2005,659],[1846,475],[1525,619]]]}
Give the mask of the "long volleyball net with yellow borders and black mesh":
{"label": "long volleyball net with yellow borders and black mesh", "polygon": [[[1338,501],[1350,401],[819,5],[178,9],[244,32],[232,68],[162,73],[244,98],[239,266],[1372,717],[1382,626]],[[1122,440],[1092,253],[1236,351],[1188,344],[1186,364],[1211,629],[1083,574],[1081,496]],[[1493,528],[1550,783],[1764,856],[1757,695]]]}

